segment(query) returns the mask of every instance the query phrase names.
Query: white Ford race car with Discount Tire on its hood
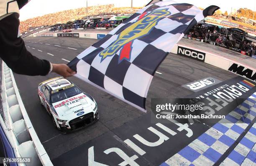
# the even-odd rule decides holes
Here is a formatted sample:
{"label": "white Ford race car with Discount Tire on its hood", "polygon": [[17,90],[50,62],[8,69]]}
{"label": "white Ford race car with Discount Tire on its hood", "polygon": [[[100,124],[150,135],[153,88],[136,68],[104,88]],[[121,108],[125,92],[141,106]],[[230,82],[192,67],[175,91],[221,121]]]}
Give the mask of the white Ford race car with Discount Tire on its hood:
{"label": "white Ford race car with Discount Tire on its hood", "polygon": [[63,77],[41,82],[38,97],[56,128],[63,133],[84,128],[99,119],[97,103]]}

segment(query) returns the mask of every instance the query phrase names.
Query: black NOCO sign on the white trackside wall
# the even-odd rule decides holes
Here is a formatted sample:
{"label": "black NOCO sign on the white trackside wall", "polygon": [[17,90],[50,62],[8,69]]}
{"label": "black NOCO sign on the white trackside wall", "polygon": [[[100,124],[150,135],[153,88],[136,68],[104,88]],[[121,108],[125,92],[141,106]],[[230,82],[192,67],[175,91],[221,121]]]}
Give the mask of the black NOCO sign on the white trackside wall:
{"label": "black NOCO sign on the white trackside wall", "polygon": [[205,62],[205,53],[192,50],[192,49],[187,49],[185,47],[178,46],[178,55],[188,57],[190,59],[195,59],[197,61],[202,61]]}

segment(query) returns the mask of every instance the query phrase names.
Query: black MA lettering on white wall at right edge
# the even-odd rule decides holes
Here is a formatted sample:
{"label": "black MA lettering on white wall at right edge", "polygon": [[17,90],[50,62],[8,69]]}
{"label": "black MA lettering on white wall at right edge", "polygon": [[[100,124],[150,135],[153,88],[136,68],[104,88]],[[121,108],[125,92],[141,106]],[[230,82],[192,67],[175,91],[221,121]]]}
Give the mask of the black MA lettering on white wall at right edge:
{"label": "black MA lettering on white wall at right edge", "polygon": [[256,82],[256,72],[252,71],[251,69],[248,69],[244,66],[240,66],[238,64],[233,63],[229,67],[228,71],[239,74],[243,77],[246,77],[246,78],[251,79],[252,81]]}

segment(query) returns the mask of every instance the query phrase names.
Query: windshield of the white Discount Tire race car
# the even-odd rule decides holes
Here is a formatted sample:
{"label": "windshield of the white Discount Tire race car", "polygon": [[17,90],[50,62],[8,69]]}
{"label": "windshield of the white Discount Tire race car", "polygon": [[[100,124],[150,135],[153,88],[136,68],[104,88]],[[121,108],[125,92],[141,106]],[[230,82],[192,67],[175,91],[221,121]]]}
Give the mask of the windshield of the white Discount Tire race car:
{"label": "windshield of the white Discount Tire race car", "polygon": [[59,92],[51,94],[51,103],[65,100],[80,93],[82,93],[82,91],[76,86],[60,90]]}

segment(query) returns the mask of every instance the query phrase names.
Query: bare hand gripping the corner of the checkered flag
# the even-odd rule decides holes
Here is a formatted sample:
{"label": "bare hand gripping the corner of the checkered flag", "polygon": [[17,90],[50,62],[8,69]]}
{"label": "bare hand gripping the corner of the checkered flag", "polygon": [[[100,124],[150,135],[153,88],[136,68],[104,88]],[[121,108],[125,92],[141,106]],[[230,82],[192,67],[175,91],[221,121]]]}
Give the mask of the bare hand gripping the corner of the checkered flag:
{"label": "bare hand gripping the corner of the checkered flag", "polygon": [[66,64],[52,64],[52,72],[55,72],[65,78],[76,74],[76,72],[70,69]]}

